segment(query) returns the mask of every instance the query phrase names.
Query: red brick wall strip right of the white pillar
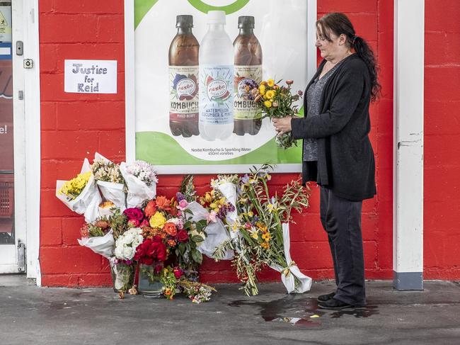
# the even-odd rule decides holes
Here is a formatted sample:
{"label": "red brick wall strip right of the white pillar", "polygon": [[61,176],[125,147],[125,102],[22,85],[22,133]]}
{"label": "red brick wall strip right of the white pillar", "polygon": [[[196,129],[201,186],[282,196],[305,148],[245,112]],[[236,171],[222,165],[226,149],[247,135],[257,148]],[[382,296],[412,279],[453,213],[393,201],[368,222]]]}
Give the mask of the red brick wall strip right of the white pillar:
{"label": "red brick wall strip right of the white pillar", "polygon": [[460,7],[425,0],[425,278],[460,277]]}

